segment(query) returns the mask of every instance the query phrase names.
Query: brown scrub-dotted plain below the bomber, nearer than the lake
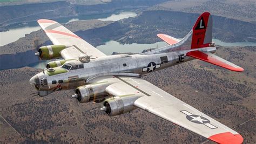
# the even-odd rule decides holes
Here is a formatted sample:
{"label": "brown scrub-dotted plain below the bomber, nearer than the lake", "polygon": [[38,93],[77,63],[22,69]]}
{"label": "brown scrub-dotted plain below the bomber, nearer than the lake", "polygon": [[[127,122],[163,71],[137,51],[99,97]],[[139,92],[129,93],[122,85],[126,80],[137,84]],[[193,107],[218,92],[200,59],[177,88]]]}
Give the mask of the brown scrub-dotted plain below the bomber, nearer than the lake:
{"label": "brown scrub-dotted plain below the bomber, nearer than the lake", "polygon": [[[255,143],[255,48],[217,50],[218,56],[243,67],[244,72],[193,60],[143,78],[233,127],[245,143]],[[72,90],[31,97],[35,89],[29,79],[38,72],[29,67],[0,71],[0,143],[199,143],[207,140],[140,109],[109,117],[99,110],[100,104],[80,104],[72,99]]]}

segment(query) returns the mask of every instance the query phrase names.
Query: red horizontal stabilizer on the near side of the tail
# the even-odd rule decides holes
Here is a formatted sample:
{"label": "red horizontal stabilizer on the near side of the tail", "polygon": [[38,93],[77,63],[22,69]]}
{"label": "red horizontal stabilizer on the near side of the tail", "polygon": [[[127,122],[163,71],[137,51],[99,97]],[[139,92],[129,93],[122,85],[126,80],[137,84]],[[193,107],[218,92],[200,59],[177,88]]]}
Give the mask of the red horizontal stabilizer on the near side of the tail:
{"label": "red horizontal stabilizer on the near side of the tail", "polygon": [[220,58],[210,52],[191,51],[191,52],[188,52],[186,54],[186,56],[200,59],[200,60],[206,61],[208,63],[227,68],[228,70],[231,70],[231,71],[236,71],[236,72],[244,71],[244,68],[234,65],[234,64],[230,63],[229,61],[227,61],[223,58]]}

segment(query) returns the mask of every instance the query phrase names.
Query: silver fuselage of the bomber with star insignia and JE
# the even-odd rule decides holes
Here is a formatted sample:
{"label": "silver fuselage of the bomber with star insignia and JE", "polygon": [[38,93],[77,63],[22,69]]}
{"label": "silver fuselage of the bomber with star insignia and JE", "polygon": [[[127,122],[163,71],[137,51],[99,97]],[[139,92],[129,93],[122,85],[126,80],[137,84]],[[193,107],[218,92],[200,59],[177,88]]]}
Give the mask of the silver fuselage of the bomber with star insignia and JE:
{"label": "silver fuselage of the bomber with star insignia and JE", "polygon": [[[202,51],[215,52],[215,47],[205,47]],[[162,70],[170,66],[178,65],[190,61],[193,58],[187,57],[186,53],[191,50],[175,51],[167,53],[154,54],[119,54],[113,56],[99,57],[92,59],[89,63],[81,63],[75,60],[75,63],[83,65],[83,68],[69,70],[59,74],[49,74],[48,70],[38,73],[35,77],[39,85],[37,90],[39,95],[45,96],[53,91],[69,90],[86,85],[86,80],[95,76],[114,73],[123,75],[125,73],[134,73],[143,76],[149,72]],[[150,53],[150,52],[149,52]],[[55,67],[53,70],[58,70]],[[35,77],[31,78],[35,81]]]}

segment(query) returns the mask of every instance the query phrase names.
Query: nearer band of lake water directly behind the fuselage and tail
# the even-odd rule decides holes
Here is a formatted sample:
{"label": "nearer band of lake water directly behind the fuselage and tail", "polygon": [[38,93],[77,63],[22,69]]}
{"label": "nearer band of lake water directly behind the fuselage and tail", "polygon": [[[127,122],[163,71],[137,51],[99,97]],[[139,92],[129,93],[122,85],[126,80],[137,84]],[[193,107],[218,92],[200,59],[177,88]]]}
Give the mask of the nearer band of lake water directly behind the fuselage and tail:
{"label": "nearer band of lake water directly behind the fuselage and tail", "polygon": [[[218,39],[212,39],[213,42],[217,45],[222,46],[256,46],[256,43],[251,42],[240,42],[240,43],[225,43],[221,42]],[[167,44],[165,42],[157,42],[153,44],[120,44],[114,40],[110,40],[109,42],[106,42],[105,45],[99,45],[96,48],[106,55],[111,55],[113,52],[133,52],[133,53],[141,53],[143,50],[150,49],[150,48],[160,48],[164,47]],[[29,66],[35,67],[35,68],[45,68],[45,65],[49,63],[51,60],[41,61],[41,63],[31,64]]]}

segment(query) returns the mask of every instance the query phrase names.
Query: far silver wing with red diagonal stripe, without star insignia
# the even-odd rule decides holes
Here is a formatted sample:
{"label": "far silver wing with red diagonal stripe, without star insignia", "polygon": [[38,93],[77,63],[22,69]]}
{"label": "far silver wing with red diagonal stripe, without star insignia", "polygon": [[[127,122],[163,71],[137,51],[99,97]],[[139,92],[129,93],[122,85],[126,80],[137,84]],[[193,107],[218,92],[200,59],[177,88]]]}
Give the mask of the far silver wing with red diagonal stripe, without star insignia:
{"label": "far silver wing with red diagonal stripe, without star insignia", "polygon": [[68,46],[60,53],[64,59],[76,59],[82,53],[86,53],[91,57],[105,56],[104,53],[85,42],[85,40],[66,29],[63,25],[48,19],[39,19],[37,22],[53,44]]}

